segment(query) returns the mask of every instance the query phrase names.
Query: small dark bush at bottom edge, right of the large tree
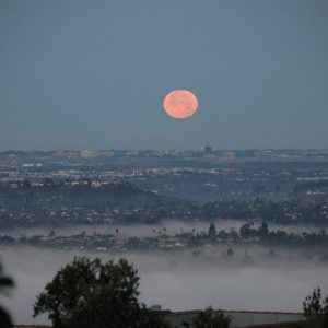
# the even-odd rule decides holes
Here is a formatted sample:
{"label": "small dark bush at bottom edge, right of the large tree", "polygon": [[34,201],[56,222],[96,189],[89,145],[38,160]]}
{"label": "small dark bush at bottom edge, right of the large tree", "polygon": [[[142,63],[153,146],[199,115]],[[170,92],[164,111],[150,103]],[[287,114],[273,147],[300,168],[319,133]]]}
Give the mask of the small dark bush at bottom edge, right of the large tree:
{"label": "small dark bush at bottom edge, right of the large tree", "polygon": [[222,311],[208,307],[200,312],[194,319],[195,328],[229,328],[231,318],[225,316]]}

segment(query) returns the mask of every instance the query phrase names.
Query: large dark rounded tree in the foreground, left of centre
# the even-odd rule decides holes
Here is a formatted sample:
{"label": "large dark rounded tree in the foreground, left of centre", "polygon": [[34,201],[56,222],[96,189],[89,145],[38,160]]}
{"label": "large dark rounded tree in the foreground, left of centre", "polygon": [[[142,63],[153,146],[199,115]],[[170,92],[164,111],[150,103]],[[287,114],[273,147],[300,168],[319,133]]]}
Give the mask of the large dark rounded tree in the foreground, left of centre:
{"label": "large dark rounded tree in the foreground, left of centre", "polygon": [[48,313],[55,328],[167,327],[138,301],[139,277],[126,260],[78,257],[37,296],[34,316]]}

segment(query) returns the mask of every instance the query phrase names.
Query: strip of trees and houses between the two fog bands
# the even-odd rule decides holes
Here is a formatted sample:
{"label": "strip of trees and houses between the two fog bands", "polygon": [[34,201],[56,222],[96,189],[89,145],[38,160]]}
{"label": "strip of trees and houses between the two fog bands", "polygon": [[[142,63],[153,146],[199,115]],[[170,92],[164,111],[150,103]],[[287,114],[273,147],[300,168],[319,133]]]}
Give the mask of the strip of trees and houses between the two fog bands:
{"label": "strip of trees and houses between the two fog bands", "polygon": [[[325,229],[317,232],[303,232],[295,234],[283,230],[270,231],[267,223],[255,227],[253,223],[243,224],[239,230],[230,231],[216,230],[211,223],[207,232],[180,232],[179,234],[168,235],[163,227],[148,237],[122,237],[116,229],[113,234],[91,234],[85,232],[71,236],[56,235],[54,231],[49,235],[34,235],[31,237],[21,236],[15,238],[11,235],[0,235],[0,245],[30,245],[33,247],[58,248],[58,249],[84,249],[90,251],[172,251],[184,248],[200,249],[209,243],[212,245],[237,245],[237,244],[259,244],[272,248],[293,246],[320,249],[320,259],[328,260],[326,249],[328,247],[328,234]],[[119,246],[118,246],[119,245]],[[232,254],[227,254],[231,256]],[[272,254],[274,256],[274,254]]]}

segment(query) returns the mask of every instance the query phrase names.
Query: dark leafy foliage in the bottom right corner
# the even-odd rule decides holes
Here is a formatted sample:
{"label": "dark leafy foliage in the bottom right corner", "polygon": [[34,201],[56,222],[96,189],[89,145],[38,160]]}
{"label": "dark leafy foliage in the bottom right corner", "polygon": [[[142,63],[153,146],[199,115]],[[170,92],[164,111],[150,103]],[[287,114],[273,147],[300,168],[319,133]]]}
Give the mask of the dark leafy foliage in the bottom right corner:
{"label": "dark leafy foliage in the bottom right corner", "polygon": [[328,295],[324,298],[320,288],[313,290],[311,295],[303,302],[303,312],[307,327],[327,328],[328,327]]}

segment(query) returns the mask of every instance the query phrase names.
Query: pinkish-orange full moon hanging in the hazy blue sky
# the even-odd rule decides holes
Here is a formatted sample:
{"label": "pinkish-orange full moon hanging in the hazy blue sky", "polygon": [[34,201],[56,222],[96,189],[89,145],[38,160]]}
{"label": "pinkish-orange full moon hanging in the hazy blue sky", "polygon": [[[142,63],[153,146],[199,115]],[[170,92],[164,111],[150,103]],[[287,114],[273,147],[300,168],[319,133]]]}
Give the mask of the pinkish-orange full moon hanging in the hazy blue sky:
{"label": "pinkish-orange full moon hanging in the hazy blue sky", "polygon": [[196,95],[188,90],[174,90],[164,98],[165,112],[174,118],[188,118],[198,108]]}

